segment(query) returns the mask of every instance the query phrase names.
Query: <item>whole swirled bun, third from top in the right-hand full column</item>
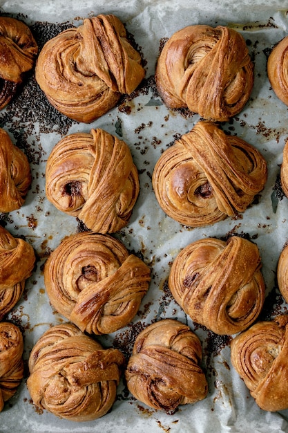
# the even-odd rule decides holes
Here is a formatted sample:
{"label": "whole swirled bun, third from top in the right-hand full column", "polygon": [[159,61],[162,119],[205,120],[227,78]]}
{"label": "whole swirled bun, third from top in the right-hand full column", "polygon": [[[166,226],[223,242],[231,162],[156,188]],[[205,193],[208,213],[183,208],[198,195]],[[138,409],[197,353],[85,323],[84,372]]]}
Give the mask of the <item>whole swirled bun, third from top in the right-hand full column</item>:
{"label": "whole swirled bun, third from top in the right-hand full column", "polygon": [[265,300],[258,247],[241,237],[206,238],[177,255],[169,274],[176,302],[194,322],[234,334],[257,319]]}

